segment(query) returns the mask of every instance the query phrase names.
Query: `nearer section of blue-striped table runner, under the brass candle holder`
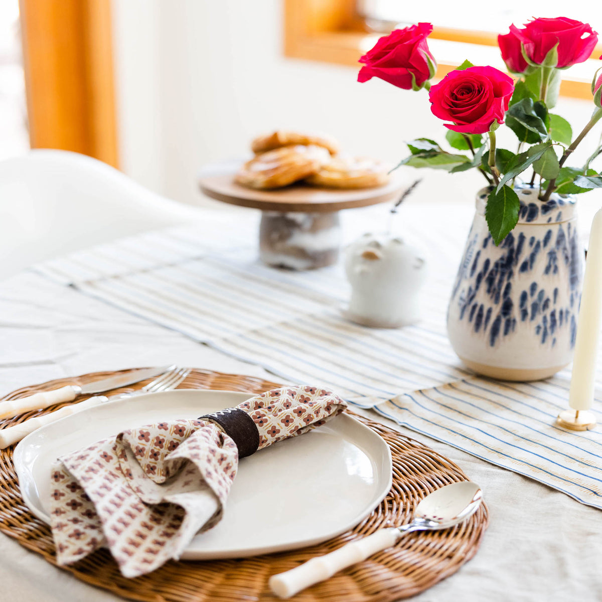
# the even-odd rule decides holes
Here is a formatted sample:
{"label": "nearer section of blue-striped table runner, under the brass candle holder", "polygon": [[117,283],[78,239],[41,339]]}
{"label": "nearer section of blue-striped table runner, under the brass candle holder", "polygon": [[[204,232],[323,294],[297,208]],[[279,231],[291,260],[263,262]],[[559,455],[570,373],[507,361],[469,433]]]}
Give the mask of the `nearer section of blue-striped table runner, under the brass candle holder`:
{"label": "nearer section of blue-striped table runner, under the brass candle holder", "polygon": [[375,409],[409,429],[602,509],[602,433],[554,424],[566,408],[569,382],[566,371],[533,383],[473,376],[394,397]]}

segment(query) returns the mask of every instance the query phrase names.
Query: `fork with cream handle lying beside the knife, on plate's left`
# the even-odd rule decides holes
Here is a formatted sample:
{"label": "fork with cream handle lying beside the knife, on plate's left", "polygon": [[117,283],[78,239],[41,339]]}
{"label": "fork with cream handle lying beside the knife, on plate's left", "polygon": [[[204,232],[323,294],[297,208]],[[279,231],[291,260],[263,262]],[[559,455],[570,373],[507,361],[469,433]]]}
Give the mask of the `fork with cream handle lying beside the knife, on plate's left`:
{"label": "fork with cream handle lying beside the knife, on plate's left", "polygon": [[176,386],[178,386],[179,383],[181,383],[182,380],[184,380],[188,374],[190,374],[190,372],[191,368],[179,368],[175,366],[172,368],[172,370],[161,374],[161,376],[158,376],[155,380],[152,380],[147,385],[144,385],[138,391],[133,391],[132,393],[120,393],[111,397],[107,397],[105,395],[89,397],[83,402],[73,403],[70,406],[65,406],[64,408],[55,410],[49,414],[37,416],[35,418],[29,418],[29,420],[25,420],[25,422],[15,424],[14,426],[9,426],[7,429],[0,430],[0,449],[4,449],[8,447],[8,445],[17,443],[25,436],[33,433],[34,430],[39,429],[41,426],[45,426],[46,424],[50,424],[60,420],[60,418],[75,414],[76,412],[93,408],[101,403],[114,402],[118,399],[134,397],[144,393],[161,393],[162,391],[171,391],[172,389],[175,389]]}

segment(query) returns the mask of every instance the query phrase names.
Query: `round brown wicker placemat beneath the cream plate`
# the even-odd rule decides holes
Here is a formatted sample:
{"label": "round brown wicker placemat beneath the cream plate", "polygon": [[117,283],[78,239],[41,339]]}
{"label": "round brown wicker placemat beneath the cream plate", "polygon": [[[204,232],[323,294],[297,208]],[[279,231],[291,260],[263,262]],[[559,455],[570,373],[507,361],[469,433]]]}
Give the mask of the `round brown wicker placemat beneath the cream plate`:
{"label": "round brown wicker placemat beneath the cream plate", "polygon": [[[83,384],[111,374],[117,373],[99,372],[78,378],[51,380],[13,391],[4,399],[25,397],[67,384]],[[116,392],[132,391],[142,385],[144,382],[116,389]],[[261,393],[278,386],[277,383],[250,376],[194,370],[178,388]],[[1,424],[2,427],[9,426],[42,413],[28,412]],[[335,550],[356,536],[368,535],[384,524],[406,523],[424,495],[448,483],[467,479],[453,462],[425,445],[377,422],[357,418],[379,433],[391,447],[393,487],[380,506],[355,529],[323,544],[291,552],[235,560],[168,562],[154,573],[137,579],[122,577],[107,550],[99,550],[75,565],[63,567],[64,570],[85,583],[144,602],[275,601],[278,598],[270,594],[267,587],[272,574]],[[23,503],[12,456],[12,447],[0,451],[0,531],[56,564],[50,529],[34,517]],[[488,510],[483,505],[473,517],[452,530],[410,533],[394,548],[382,551],[361,564],[341,571],[326,582],[300,592],[293,600],[389,602],[418,594],[455,573],[474,556],[487,523]]]}

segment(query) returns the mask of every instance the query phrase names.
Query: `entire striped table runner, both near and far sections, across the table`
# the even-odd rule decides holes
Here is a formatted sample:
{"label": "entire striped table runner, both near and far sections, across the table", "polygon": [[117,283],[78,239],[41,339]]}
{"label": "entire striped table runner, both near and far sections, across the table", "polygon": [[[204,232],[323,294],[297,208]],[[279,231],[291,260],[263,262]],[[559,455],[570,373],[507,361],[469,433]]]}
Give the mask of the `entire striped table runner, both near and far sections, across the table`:
{"label": "entire striped table runner, both near and far sections, across the table", "polygon": [[473,376],[453,353],[445,309],[464,232],[456,238],[449,231],[430,234],[425,244],[436,261],[423,319],[394,330],[343,318],[349,288],[340,265],[275,270],[256,260],[254,231],[237,230],[235,241],[222,232],[151,232],[36,270],[290,382],[332,388],[409,429],[602,507],[602,435],[554,426],[566,407],[568,371],[545,382],[501,383]]}

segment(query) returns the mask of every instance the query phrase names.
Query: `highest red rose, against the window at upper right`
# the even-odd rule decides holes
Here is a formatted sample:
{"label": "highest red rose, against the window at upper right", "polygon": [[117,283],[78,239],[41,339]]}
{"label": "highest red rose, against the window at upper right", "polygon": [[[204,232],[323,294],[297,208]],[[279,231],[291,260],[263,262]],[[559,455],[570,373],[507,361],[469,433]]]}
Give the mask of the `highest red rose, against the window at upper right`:
{"label": "highest red rose, against the window at upper right", "polygon": [[524,29],[510,25],[509,34],[498,36],[501,56],[508,69],[516,73],[527,69],[521,46],[532,63],[541,65],[548,52],[558,45],[558,61],[548,66],[563,69],[588,60],[597,42],[598,34],[588,23],[567,17],[535,19],[526,23]]}

